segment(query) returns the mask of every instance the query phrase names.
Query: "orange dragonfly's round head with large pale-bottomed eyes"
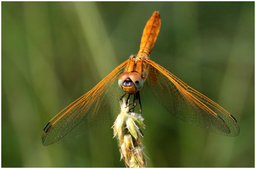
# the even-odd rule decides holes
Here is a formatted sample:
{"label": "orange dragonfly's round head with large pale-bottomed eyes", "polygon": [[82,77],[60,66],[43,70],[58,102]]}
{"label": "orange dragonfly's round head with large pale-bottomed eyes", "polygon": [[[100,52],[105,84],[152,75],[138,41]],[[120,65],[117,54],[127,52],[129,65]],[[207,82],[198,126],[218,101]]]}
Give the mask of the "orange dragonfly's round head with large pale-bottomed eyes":
{"label": "orange dragonfly's round head with large pale-bottomed eyes", "polygon": [[124,72],[119,77],[119,87],[127,94],[134,94],[136,91],[143,88],[143,79],[137,72]]}

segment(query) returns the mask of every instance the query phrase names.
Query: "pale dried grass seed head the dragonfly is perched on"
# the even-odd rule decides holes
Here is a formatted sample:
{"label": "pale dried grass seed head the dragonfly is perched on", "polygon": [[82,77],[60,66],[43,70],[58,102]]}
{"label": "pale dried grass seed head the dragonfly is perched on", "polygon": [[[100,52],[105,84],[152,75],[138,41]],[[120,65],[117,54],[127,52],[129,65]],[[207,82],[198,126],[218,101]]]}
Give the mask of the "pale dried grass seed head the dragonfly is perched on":
{"label": "pale dried grass seed head the dragonfly is perched on", "polygon": [[118,136],[121,159],[129,167],[146,167],[140,128],[145,128],[140,114],[129,112],[125,99],[120,103],[121,112],[113,124],[113,134]]}

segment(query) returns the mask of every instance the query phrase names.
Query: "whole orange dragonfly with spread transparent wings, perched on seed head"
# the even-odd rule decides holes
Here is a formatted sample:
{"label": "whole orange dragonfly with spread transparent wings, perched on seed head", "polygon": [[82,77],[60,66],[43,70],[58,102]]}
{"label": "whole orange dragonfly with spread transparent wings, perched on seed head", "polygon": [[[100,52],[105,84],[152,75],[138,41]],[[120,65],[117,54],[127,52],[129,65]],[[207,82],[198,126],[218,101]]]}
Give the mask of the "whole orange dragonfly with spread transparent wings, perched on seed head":
{"label": "whole orange dragonfly with spread transparent wings, perched on seed head", "polygon": [[160,26],[160,13],[156,11],[146,23],[137,55],[131,55],[93,89],[53,117],[42,132],[44,145],[74,138],[109,123],[119,114],[119,101],[123,97],[132,110],[139,102],[142,113],[140,91],[146,84],[158,101],[183,121],[226,136],[240,133],[238,122],[228,111],[149,59]]}

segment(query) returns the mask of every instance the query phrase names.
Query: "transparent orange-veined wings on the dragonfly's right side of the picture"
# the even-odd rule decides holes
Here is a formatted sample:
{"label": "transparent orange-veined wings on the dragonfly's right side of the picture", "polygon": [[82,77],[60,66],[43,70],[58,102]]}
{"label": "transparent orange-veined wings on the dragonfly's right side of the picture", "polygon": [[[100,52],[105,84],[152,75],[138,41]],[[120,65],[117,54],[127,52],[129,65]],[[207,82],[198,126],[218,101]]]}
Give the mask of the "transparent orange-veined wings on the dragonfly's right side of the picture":
{"label": "transparent orange-veined wings on the dragonfly's right side of the picture", "polygon": [[163,106],[183,121],[195,124],[214,133],[236,136],[238,123],[229,112],[189,87],[165,68],[151,60],[148,83]]}

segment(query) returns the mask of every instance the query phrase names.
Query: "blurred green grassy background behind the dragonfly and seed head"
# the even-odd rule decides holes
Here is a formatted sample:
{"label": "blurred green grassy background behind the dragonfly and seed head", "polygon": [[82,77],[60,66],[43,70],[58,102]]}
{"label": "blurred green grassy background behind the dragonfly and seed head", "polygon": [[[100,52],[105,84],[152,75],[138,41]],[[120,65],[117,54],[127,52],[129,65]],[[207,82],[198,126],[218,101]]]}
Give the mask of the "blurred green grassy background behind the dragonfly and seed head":
{"label": "blurred green grassy background behind the dragonfly and seed head", "polygon": [[2,2],[2,167],[123,167],[112,124],[43,146],[42,129],[139,50],[231,112],[239,136],[210,133],[142,97],[148,167],[254,167],[254,2]]}

